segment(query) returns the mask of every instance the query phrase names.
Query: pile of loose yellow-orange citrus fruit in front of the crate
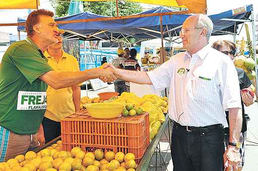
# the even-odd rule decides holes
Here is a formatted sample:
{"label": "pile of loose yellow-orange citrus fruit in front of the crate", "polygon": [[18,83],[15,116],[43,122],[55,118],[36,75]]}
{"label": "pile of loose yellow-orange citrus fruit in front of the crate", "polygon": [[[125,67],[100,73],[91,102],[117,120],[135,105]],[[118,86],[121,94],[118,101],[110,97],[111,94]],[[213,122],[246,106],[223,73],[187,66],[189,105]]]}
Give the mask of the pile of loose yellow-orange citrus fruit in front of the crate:
{"label": "pile of loose yellow-orange citrus fruit in front of the crate", "polygon": [[135,155],[101,149],[85,153],[80,147],[71,151],[61,150],[57,141],[38,153],[28,151],[25,156],[17,155],[7,162],[0,162],[0,171],[134,171],[137,167]]}

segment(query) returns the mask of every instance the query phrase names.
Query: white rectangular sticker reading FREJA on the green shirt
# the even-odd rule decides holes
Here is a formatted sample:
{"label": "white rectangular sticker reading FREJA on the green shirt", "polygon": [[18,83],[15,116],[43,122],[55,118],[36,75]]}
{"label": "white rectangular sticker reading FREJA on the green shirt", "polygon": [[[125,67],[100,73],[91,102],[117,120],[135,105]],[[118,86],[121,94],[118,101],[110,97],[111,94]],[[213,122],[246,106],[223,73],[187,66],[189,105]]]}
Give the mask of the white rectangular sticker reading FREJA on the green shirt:
{"label": "white rectangular sticker reading FREJA on the green shirt", "polygon": [[46,92],[19,91],[17,110],[46,109]]}

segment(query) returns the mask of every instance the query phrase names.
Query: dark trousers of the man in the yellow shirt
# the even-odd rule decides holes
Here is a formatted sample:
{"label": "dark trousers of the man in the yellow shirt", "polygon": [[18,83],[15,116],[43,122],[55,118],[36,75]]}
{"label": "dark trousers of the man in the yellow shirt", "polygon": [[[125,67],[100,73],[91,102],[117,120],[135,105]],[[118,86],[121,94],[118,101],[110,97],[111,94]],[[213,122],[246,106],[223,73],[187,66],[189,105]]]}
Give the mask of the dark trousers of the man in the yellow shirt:
{"label": "dark trousers of the man in the yellow shirt", "polygon": [[53,121],[46,117],[43,118],[42,126],[44,129],[45,143],[61,135],[60,122]]}

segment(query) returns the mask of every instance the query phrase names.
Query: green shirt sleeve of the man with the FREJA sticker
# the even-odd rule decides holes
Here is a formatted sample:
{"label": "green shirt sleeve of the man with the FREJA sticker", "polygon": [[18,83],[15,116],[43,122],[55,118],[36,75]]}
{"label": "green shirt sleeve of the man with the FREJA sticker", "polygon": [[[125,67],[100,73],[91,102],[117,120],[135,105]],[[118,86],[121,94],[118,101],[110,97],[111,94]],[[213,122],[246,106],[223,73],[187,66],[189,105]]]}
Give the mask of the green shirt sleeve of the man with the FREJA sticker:
{"label": "green shirt sleeve of the man with the FREJA sticker", "polygon": [[[28,51],[31,53],[28,53]],[[26,54],[26,56],[24,54]],[[11,59],[30,84],[39,76],[53,70],[39,51],[30,46],[18,46],[14,50]]]}

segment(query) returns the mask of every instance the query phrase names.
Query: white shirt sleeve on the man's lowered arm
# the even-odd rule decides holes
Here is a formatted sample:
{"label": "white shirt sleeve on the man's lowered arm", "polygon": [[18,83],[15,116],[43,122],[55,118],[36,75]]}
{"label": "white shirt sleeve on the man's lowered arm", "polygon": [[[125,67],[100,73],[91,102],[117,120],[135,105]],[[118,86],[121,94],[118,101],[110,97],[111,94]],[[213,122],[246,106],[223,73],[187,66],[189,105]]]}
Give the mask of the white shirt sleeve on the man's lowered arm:
{"label": "white shirt sleeve on the man's lowered arm", "polygon": [[242,108],[238,75],[233,62],[224,58],[221,68],[221,93],[224,109]]}

